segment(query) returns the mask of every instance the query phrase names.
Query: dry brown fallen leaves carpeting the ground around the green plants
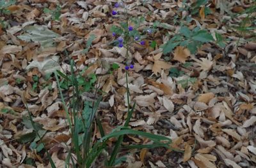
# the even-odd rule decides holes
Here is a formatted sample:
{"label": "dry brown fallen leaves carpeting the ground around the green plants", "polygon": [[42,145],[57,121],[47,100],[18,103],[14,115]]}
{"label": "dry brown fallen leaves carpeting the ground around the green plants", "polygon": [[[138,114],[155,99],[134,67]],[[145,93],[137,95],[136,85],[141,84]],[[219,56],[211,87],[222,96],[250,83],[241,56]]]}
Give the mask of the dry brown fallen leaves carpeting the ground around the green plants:
{"label": "dry brown fallen leaves carpeting the ground around the green plants", "polygon": [[[45,162],[43,151],[31,146],[38,139],[31,123],[23,118],[28,111],[22,99],[27,100],[52,159],[58,167],[65,165],[68,153],[63,142],[70,147],[70,136],[51,73],[56,69],[70,72],[67,66],[69,59],[76,62],[77,71],[90,66],[85,74],[96,72],[102,75],[95,85],[107,93],[102,103],[108,108],[99,109],[106,132],[124,123],[127,99],[122,68],[126,51],[125,48],[109,48],[113,40],[110,27],[118,21],[118,17],[110,17],[111,2],[33,1],[33,6],[29,6],[25,1],[18,1],[8,7],[12,15],[3,17],[8,26],[0,25],[0,159],[4,167],[33,167],[29,160],[34,160],[37,167],[50,166]],[[213,36],[217,45],[207,43],[212,37],[206,31],[200,31],[191,37],[195,41],[206,42],[201,47],[195,46],[198,47],[197,54],[189,52],[189,47],[174,42],[167,44],[168,50],[173,50],[170,53],[160,47],[175,30],[180,29],[180,25],[175,23],[182,22],[178,16],[188,16],[188,11],[179,11],[179,8],[186,8],[182,1],[127,3],[132,10],[131,15],[145,15],[144,25],[154,21],[161,23],[156,24],[158,29],[154,36],[147,39],[156,40],[155,48],[147,42],[146,46],[135,44],[129,51],[135,65],[134,71],[129,72],[129,87],[131,99],[136,101],[130,125],[136,130],[170,137],[172,148],[182,152],[158,148],[132,151],[122,166],[255,166],[256,42],[255,38],[245,42],[252,35],[245,34],[241,38],[239,29],[236,29],[246,16],[230,17],[231,12],[238,14],[246,10],[252,1],[210,1],[208,5],[187,1],[198,13],[188,17],[192,20],[186,22],[189,29],[203,27],[228,39],[224,47],[218,42],[220,37],[217,35]],[[61,21],[51,20],[51,15],[42,13],[43,6],[54,9],[59,4]],[[206,8],[212,13],[207,13]],[[147,12],[152,15],[145,14]],[[255,11],[252,15],[255,16]],[[189,32],[184,33],[184,36],[190,36]],[[69,57],[65,57],[64,50],[70,53]],[[108,71],[114,62],[118,69],[109,78]],[[170,68],[184,73],[172,76]],[[67,100],[72,95],[68,90],[63,94]],[[84,97],[93,99],[90,94]],[[95,131],[100,135],[99,130]],[[125,142],[128,144],[148,141],[141,137],[128,137]],[[20,139],[26,143],[18,143]],[[102,166],[100,162],[95,164]]]}

